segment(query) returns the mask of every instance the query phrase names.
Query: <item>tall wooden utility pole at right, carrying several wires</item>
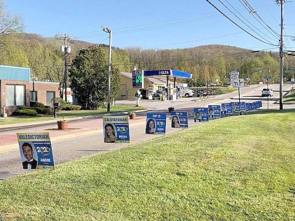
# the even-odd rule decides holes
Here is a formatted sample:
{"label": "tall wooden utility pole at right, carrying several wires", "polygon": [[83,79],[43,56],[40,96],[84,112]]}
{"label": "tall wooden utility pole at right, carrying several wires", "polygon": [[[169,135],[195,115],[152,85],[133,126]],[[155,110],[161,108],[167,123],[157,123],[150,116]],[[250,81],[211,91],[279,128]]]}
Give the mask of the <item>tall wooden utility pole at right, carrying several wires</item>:
{"label": "tall wooden utility pole at right, carrying several wires", "polygon": [[280,45],[280,109],[283,109],[283,76],[284,76],[284,3],[285,0],[276,0],[281,4],[281,45]]}

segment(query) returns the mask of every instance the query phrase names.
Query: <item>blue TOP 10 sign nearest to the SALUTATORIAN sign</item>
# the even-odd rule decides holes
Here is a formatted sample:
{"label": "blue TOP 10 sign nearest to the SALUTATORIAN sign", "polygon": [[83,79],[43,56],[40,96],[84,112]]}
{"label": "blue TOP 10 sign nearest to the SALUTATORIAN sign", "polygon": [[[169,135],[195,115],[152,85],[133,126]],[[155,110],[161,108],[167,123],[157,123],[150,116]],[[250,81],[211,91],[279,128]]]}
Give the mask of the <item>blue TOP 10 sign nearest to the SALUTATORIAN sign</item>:
{"label": "blue TOP 10 sign nearest to the SALUTATORIAN sign", "polygon": [[165,134],[167,114],[149,113],[146,115],[145,134]]}

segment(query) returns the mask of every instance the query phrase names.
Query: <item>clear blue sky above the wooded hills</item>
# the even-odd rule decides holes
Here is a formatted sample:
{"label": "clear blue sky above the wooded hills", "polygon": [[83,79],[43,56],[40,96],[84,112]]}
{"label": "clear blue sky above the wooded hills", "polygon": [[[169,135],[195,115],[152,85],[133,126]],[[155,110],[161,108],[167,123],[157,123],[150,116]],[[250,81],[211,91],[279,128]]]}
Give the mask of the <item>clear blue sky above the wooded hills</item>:
{"label": "clear blue sky above the wooded hills", "polygon": [[[210,1],[239,25],[250,30],[218,0]],[[254,25],[251,26],[252,29],[256,31],[258,29],[257,32],[270,42],[278,43],[278,40],[249,14],[239,0],[222,0],[224,4],[227,4],[226,1]],[[275,4],[275,0],[247,1],[267,25],[280,32],[280,7]],[[4,0],[4,2],[13,14],[23,17],[26,32],[46,37],[66,33],[79,40],[108,44],[108,35],[100,28],[104,25],[113,30],[113,45],[119,48],[134,46],[142,49],[176,49],[211,44],[255,50],[274,48],[246,33],[241,33],[242,30],[230,23],[205,0]],[[230,8],[228,4],[227,6]],[[295,21],[292,20],[291,13],[295,10],[294,3],[286,3],[285,8],[286,35],[295,35]],[[234,11],[233,8],[231,10]],[[235,13],[242,18],[236,11]],[[287,38],[286,46],[295,47],[295,41]]]}

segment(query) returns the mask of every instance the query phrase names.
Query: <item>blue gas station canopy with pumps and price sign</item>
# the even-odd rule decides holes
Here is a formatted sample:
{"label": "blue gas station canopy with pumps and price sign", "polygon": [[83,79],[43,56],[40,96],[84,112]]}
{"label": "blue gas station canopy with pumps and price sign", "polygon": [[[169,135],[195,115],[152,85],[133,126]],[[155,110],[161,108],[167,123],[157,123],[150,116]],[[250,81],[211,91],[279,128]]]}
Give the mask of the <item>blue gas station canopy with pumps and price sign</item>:
{"label": "blue gas station canopy with pumps and price sign", "polygon": [[[176,79],[177,78],[192,78],[191,73],[177,71],[177,70],[153,70],[153,71],[145,71],[145,70],[136,70],[132,72],[132,86],[135,88],[138,88],[137,91],[137,97],[138,94],[140,94],[139,89],[144,88],[144,77],[154,77],[154,78],[161,78],[166,80],[166,90],[165,94],[167,96],[168,100],[171,100],[173,96],[176,96],[176,99],[178,98],[177,94],[179,89],[177,89],[176,85]],[[174,88],[171,92],[171,88],[169,86],[169,80],[174,80]],[[172,95],[172,96],[171,96]]]}

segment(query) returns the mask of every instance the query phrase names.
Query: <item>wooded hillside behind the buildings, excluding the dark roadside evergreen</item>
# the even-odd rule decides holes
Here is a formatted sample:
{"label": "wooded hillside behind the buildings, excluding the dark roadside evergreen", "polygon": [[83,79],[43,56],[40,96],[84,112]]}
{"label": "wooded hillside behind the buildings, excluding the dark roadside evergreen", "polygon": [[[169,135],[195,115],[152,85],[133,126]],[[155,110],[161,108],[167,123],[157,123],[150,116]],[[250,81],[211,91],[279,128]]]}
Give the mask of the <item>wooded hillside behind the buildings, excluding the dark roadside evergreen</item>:
{"label": "wooded hillside behind the buildings, excluding the dark roadside evergreen", "polygon": [[[30,67],[32,77],[42,81],[57,81],[63,84],[64,58],[59,51],[63,42],[55,38],[45,38],[36,34],[14,33],[0,36],[0,63]],[[69,65],[81,49],[94,44],[71,40],[72,52]],[[107,50],[107,45],[102,45]],[[288,60],[294,60],[288,58]],[[286,60],[286,67],[288,66]],[[187,49],[142,50],[138,47],[113,48],[112,63],[120,71],[138,69],[178,69],[193,74],[190,85],[200,85],[206,81],[228,82],[228,72],[239,70],[241,77],[251,78],[251,83],[261,81],[268,73],[272,80],[279,80],[279,54],[277,52],[257,52],[231,46],[209,45]],[[70,68],[70,67],[69,67]],[[265,69],[263,71],[255,71]]]}

